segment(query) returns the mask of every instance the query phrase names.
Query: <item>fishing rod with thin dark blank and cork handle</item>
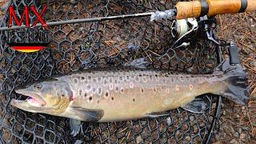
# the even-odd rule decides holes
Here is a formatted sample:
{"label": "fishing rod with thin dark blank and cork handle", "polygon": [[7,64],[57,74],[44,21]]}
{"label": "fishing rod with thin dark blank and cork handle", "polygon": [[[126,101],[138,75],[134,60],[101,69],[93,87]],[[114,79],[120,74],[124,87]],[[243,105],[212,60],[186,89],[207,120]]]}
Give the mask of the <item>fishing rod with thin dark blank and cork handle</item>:
{"label": "fishing rod with thin dark blank and cork handle", "polygon": [[[108,20],[126,19],[126,18],[141,18],[151,17],[150,21],[162,19],[162,18],[199,18],[204,15],[212,17],[217,14],[234,14],[256,10],[256,0],[201,0],[190,2],[178,2],[174,9],[166,11],[146,12],[138,14],[124,14],[118,16],[108,16],[100,18],[82,18],[72,19],[58,22],[46,22],[47,26],[74,24],[81,22],[102,22]],[[42,26],[38,23],[36,26]],[[22,26],[1,27],[2,30],[15,30],[26,28]]]}

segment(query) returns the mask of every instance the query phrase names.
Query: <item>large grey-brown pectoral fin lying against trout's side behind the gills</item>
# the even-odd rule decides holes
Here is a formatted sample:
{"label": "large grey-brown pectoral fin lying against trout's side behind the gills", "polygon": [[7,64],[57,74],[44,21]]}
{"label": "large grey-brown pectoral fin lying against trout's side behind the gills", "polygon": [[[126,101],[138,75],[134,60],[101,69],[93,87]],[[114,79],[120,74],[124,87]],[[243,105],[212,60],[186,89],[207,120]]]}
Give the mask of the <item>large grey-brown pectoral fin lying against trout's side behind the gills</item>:
{"label": "large grey-brown pectoral fin lying against trout's side behind the gills", "polygon": [[[98,122],[104,114],[103,110],[91,110],[82,107],[73,106],[70,107],[70,114],[77,116],[82,121],[86,122]],[[74,117],[74,118],[75,118]]]}

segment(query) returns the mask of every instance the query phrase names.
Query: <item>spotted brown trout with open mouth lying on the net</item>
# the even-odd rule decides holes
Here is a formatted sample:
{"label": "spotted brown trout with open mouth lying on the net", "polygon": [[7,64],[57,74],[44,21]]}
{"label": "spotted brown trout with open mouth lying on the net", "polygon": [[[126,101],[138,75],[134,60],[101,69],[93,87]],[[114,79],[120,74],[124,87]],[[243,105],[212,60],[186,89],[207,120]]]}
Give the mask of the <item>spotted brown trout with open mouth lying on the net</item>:
{"label": "spotted brown trout with open mouth lying on the net", "polygon": [[245,104],[246,74],[229,58],[214,74],[171,74],[161,70],[86,70],[15,90],[28,96],[11,105],[33,113],[87,122],[116,122],[185,106],[198,95],[218,94]]}

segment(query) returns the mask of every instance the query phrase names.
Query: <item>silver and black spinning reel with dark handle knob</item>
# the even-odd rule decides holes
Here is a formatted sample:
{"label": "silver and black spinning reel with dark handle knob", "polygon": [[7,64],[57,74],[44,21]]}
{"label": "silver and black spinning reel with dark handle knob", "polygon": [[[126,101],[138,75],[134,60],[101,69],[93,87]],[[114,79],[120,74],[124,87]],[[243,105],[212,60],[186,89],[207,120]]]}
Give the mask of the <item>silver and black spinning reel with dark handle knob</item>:
{"label": "silver and black spinning reel with dark handle knob", "polygon": [[[173,38],[177,38],[174,45],[171,48],[177,49],[178,47],[189,46],[189,42],[182,42],[181,45],[176,46],[181,42],[182,38],[190,34],[198,34],[199,36],[205,37],[210,42],[213,42],[217,46],[228,46],[230,55],[230,64],[236,65],[240,63],[238,56],[238,47],[234,42],[226,42],[215,38],[214,30],[217,27],[216,19],[209,18],[207,16],[200,18],[186,18],[181,20],[174,20],[171,25],[171,32]],[[174,47],[175,46],[175,47]]]}

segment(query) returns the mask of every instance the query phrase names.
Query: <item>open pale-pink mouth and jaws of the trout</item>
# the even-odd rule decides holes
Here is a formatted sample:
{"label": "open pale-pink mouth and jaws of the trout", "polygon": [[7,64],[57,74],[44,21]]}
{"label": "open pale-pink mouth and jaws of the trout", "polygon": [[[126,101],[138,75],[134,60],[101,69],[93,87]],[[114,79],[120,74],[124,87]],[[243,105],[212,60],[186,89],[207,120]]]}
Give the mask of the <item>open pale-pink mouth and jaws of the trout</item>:
{"label": "open pale-pink mouth and jaws of the trout", "polygon": [[26,89],[15,90],[17,94],[22,94],[26,98],[23,100],[12,99],[11,105],[18,106],[19,104],[28,103],[32,106],[46,106],[46,101],[37,93],[30,92]]}

